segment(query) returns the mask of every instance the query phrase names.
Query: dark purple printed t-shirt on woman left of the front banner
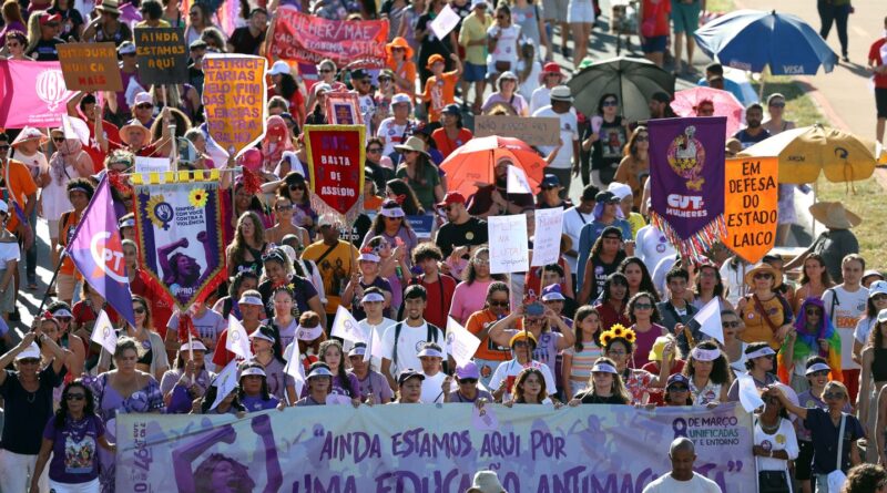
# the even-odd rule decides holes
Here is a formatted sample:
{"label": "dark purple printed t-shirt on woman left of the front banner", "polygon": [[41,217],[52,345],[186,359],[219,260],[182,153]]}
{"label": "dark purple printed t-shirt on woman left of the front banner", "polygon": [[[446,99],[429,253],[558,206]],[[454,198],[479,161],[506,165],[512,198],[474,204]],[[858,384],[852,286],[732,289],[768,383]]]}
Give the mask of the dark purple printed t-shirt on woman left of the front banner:
{"label": "dark purple printed t-shirt on woman left of the front banner", "polygon": [[43,429],[43,438],[52,440],[49,479],[80,484],[99,477],[99,438],[103,435],[104,424],[98,415],[78,422],[65,419],[61,429],[55,428],[55,417],[52,417]]}

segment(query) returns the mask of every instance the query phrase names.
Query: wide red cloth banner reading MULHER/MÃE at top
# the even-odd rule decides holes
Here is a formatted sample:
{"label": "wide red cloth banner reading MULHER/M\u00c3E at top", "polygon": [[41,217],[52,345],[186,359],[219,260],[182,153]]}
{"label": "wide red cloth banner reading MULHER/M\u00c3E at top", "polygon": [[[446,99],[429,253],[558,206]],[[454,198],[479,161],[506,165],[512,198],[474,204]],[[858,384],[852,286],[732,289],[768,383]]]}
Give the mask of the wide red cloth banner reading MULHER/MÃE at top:
{"label": "wide red cloth banner reading MULHER/M\u00c3E at top", "polygon": [[306,16],[292,7],[277,9],[271,55],[275,59],[318,63],[330,59],[338,66],[385,66],[388,21],[330,21]]}

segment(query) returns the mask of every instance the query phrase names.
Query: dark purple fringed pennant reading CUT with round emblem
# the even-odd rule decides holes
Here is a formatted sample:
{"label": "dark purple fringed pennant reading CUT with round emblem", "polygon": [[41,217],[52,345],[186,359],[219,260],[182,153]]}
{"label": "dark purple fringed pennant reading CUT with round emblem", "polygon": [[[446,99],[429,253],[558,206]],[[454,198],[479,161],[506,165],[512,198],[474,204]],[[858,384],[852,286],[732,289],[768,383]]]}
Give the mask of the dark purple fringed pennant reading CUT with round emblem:
{"label": "dark purple fringed pennant reading CUT with round emblem", "polygon": [[682,255],[697,258],[724,226],[723,116],[651,120],[651,219]]}

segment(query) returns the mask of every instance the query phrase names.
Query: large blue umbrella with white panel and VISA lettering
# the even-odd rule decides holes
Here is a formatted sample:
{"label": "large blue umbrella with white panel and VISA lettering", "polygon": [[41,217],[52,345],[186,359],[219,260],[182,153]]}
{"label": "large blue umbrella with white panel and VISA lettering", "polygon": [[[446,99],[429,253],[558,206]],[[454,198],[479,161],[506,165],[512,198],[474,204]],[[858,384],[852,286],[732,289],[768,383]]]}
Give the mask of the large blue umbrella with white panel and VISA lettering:
{"label": "large blue umbrella with white panel and VISA lettering", "polygon": [[696,43],[727,66],[774,75],[832,72],[838,55],[809,24],[791,13],[737,10],[696,30]]}

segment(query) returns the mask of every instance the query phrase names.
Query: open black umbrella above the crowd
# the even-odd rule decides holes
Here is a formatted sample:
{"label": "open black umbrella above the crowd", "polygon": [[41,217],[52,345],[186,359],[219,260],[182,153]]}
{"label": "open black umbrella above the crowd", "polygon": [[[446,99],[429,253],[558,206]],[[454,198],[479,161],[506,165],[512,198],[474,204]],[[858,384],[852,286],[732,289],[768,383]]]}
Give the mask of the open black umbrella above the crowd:
{"label": "open black umbrella above the crowd", "polygon": [[619,96],[621,114],[630,121],[650,117],[648,102],[656,92],[674,95],[674,75],[645,59],[616,57],[582,69],[568,84],[575,97],[575,109],[587,115],[598,114],[603,94]]}

